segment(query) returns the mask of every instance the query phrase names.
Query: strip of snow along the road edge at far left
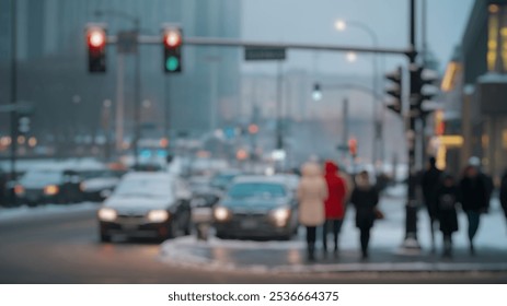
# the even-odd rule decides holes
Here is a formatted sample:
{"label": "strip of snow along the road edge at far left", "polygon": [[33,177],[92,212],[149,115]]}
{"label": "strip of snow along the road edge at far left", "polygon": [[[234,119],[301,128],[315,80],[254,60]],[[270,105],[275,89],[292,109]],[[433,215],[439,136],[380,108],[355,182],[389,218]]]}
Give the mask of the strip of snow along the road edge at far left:
{"label": "strip of snow along the road edge at far left", "polygon": [[35,208],[22,205],[19,208],[0,208],[0,222],[20,220],[26,217],[58,215],[74,212],[93,211],[97,209],[97,203],[82,202],[78,204],[46,204]]}

